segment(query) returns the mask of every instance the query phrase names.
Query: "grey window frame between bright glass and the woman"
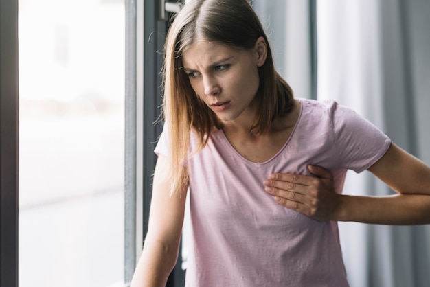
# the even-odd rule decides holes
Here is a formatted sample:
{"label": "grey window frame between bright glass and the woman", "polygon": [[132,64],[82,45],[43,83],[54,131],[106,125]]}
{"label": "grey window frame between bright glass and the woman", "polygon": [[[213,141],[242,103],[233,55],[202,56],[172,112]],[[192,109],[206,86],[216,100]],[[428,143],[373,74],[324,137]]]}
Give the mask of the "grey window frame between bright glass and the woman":
{"label": "grey window frame between bright glass and the woman", "polygon": [[[148,232],[155,143],[162,131],[163,47],[170,13],[164,0],[126,0],[124,282],[129,286]],[[181,251],[166,286],[183,286]]]}

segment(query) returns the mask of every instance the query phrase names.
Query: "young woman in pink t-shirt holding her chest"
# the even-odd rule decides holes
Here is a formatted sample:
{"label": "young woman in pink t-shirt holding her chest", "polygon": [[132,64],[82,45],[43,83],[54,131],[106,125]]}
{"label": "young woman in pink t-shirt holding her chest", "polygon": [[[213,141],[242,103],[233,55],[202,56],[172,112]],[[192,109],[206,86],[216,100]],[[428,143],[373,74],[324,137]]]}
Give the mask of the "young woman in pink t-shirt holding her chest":
{"label": "young woman in pink t-shirt holding her chest", "polygon": [[[185,197],[186,286],[348,286],[337,221],[430,222],[430,168],[336,102],[293,98],[247,0],[191,0],[168,32],[165,126],[132,285],[164,286]],[[396,196],[341,194],[370,170]]]}

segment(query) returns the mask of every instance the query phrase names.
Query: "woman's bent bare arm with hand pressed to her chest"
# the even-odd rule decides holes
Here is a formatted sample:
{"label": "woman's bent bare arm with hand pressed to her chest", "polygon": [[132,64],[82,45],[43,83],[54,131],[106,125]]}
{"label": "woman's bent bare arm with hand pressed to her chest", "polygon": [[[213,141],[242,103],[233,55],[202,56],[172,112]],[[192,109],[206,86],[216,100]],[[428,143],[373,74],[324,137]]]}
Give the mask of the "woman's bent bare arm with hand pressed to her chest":
{"label": "woman's bent bare arm with hand pressed to her chest", "polygon": [[398,194],[350,196],[334,192],[332,174],[310,166],[315,176],[273,174],[266,191],[285,207],[318,220],[383,225],[430,223],[430,168],[394,143],[369,171]]}

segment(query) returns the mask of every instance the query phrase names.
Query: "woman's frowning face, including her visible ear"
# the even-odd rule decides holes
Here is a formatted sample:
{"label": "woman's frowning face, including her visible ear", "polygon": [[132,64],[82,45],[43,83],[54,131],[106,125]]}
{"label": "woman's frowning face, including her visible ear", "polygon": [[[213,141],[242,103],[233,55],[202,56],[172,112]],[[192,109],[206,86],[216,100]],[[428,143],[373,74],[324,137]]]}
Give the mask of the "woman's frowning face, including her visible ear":
{"label": "woman's frowning face, including her visible ear", "polygon": [[194,92],[220,120],[253,119],[258,67],[264,64],[266,50],[262,37],[250,50],[197,41],[183,53],[183,70]]}

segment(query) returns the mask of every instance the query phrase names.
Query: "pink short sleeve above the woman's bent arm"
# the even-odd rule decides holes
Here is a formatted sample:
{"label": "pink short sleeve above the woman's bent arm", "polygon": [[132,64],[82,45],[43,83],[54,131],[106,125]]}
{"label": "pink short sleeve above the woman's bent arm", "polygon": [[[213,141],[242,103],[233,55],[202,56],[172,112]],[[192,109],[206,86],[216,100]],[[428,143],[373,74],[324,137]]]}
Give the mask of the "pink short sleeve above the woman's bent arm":
{"label": "pink short sleeve above the woman's bent arm", "polygon": [[332,102],[330,107],[338,163],[363,172],[387,152],[391,139],[350,108]]}

